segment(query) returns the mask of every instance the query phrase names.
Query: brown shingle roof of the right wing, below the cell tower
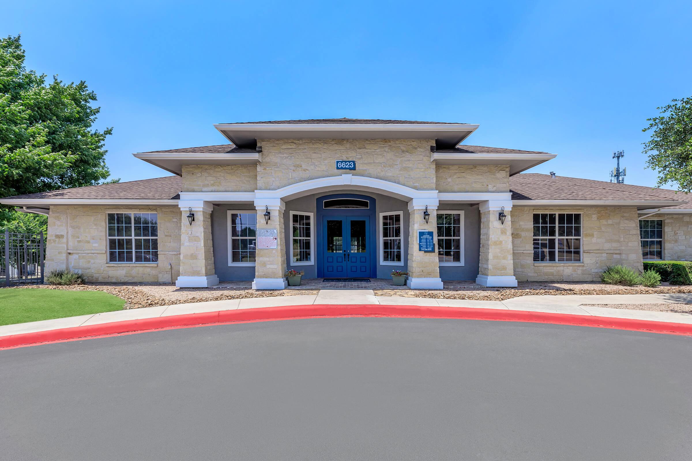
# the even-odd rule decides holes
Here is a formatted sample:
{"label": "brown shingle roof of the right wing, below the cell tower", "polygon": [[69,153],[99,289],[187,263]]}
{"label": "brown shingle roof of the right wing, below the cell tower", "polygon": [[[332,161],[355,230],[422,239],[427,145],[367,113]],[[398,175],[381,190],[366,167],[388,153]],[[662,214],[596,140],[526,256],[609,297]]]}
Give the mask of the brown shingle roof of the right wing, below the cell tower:
{"label": "brown shingle roof of the right wing, below the cell tower", "polygon": [[[509,178],[513,200],[688,200],[682,192],[540,173]],[[691,197],[692,198],[692,197]],[[671,208],[687,209],[689,205]]]}

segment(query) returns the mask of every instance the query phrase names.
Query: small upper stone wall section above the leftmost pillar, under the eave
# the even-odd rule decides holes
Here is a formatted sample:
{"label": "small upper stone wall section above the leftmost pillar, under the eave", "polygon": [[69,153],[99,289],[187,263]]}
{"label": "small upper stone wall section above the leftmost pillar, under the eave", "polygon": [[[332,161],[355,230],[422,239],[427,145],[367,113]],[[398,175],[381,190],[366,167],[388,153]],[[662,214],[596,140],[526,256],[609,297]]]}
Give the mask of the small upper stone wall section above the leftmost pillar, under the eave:
{"label": "small upper stone wall section above the leftmost pillar, under the eave", "polygon": [[254,192],[257,189],[257,166],[249,165],[183,165],[185,192]]}

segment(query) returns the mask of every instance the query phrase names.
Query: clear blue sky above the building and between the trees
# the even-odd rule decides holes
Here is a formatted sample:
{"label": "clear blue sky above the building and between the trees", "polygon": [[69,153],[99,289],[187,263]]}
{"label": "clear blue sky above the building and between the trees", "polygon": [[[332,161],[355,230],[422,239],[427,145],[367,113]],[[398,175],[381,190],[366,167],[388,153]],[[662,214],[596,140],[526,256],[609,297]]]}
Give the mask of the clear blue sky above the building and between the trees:
{"label": "clear blue sky above the building and between the trees", "polygon": [[224,144],[219,122],[353,117],[478,123],[468,144],[557,153],[532,171],[626,182],[646,118],[692,95],[690,1],[14,1],[27,66],[84,79],[123,181],[133,152]]}

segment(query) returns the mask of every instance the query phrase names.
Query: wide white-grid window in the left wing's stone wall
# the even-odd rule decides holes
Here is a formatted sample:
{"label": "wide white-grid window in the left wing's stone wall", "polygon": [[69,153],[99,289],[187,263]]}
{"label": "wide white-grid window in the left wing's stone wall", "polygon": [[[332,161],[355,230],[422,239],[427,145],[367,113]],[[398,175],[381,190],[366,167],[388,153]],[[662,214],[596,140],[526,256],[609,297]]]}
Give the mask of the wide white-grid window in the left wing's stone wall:
{"label": "wide white-grid window in the left wing's stone wall", "polygon": [[108,262],[158,263],[156,213],[109,213]]}

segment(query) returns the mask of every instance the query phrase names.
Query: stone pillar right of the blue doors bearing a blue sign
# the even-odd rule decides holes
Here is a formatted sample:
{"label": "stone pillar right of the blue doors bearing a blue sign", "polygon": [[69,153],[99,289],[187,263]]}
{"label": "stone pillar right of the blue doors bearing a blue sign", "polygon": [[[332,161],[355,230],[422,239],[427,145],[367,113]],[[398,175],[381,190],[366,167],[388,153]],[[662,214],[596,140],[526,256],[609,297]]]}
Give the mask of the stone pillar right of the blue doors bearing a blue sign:
{"label": "stone pillar right of the blue doors bearing a blue sign", "polygon": [[[430,219],[426,223],[424,211],[428,207]],[[437,260],[437,199],[414,198],[408,203],[408,277],[406,285],[419,290],[441,290]],[[418,231],[432,231],[435,251],[426,253],[418,250]]]}

